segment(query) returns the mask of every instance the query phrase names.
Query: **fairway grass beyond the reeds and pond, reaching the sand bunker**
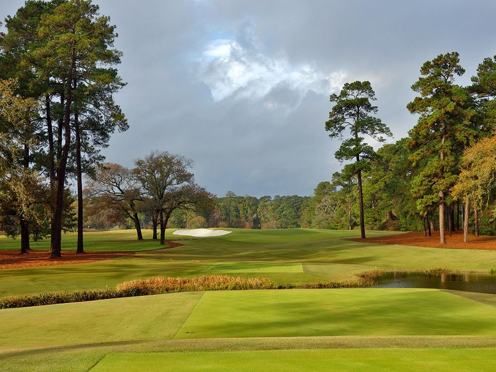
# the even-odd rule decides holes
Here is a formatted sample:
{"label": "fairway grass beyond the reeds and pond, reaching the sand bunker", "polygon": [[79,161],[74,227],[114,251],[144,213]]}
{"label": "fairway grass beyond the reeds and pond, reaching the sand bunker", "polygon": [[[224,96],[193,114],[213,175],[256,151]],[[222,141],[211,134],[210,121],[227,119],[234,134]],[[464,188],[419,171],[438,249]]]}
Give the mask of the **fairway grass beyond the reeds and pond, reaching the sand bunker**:
{"label": "fairway grass beyond the reeds and pond, reaching the sand bunker", "polygon": [[[393,233],[368,234],[377,236]],[[496,251],[385,246],[343,240],[358,237],[358,230],[235,229],[231,234],[221,237],[181,239],[168,230],[167,238],[177,239],[182,246],[154,251],[146,249],[160,248],[157,241],[130,241],[133,234],[132,230],[94,232],[85,233],[85,239],[88,250],[92,245],[102,250],[111,249],[109,247],[115,250],[145,249],[134,256],[86,264],[0,270],[0,298],[41,292],[103,289],[114,287],[125,280],[153,276],[263,276],[276,282],[298,285],[319,280],[353,279],[357,274],[374,268],[488,270],[496,266]],[[149,237],[151,232],[146,230],[144,235]],[[75,247],[74,236],[64,235],[64,249]],[[2,246],[5,246],[5,242],[7,245],[12,244],[6,238],[0,241]]]}

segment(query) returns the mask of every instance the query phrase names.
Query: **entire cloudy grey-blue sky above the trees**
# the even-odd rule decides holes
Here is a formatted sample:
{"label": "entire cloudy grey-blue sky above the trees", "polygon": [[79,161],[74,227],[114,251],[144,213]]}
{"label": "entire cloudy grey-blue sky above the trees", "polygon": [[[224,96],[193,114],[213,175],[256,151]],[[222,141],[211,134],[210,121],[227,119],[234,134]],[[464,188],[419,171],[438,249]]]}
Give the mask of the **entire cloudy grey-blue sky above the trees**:
{"label": "entire cloudy grey-blue sky above the trees", "polygon": [[[103,150],[132,167],[151,150],[194,161],[223,196],[310,195],[342,165],[324,125],[329,95],[369,80],[394,142],[420,67],[458,52],[467,85],[496,55],[496,1],[94,0],[110,16],[129,129]],[[0,2],[0,18],[24,1]],[[378,143],[371,143],[375,148]]]}

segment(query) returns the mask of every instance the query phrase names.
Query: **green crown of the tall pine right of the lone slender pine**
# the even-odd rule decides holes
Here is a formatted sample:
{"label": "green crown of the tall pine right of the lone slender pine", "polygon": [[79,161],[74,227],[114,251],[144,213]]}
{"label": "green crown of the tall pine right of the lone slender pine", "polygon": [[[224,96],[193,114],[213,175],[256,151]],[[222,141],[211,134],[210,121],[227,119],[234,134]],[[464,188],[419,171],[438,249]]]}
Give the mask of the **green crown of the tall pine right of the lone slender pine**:
{"label": "green crown of the tall pine right of the lone slender pine", "polygon": [[420,96],[407,105],[420,118],[407,146],[419,169],[412,191],[419,212],[426,214],[456,181],[461,150],[475,141],[478,128],[467,89],[454,84],[455,75],[465,72],[458,53],[439,55],[420,71],[423,76],[412,85]]}

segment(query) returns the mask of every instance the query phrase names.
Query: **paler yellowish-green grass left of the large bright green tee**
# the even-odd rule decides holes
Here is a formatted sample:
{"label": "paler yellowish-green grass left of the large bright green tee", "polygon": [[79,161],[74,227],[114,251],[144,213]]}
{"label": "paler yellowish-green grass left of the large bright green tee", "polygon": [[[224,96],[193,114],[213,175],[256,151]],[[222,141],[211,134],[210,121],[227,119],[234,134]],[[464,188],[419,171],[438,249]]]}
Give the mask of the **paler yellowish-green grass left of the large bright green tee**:
{"label": "paler yellowish-green grass left of the large bright green tee", "polygon": [[0,310],[0,349],[172,338],[202,292]]}

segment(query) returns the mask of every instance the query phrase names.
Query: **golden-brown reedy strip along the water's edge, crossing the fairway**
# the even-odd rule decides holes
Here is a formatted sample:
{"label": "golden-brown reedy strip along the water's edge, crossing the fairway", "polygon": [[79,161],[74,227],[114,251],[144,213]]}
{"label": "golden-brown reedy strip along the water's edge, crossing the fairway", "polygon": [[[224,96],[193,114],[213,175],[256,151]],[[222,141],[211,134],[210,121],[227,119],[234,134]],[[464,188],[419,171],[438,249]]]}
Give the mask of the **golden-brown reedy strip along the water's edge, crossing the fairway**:
{"label": "golden-brown reedy strip along the water's edge, crossing the fairway", "polygon": [[123,297],[158,295],[173,292],[194,291],[236,291],[255,289],[292,288],[351,288],[366,287],[369,280],[348,280],[342,282],[311,282],[296,286],[290,283],[275,283],[267,278],[242,278],[231,276],[200,276],[196,278],[156,277],[145,280],[131,280],[120,283],[116,288],[63,293],[44,293],[22,296],[0,301],[0,309],[24,308],[40,305],[55,305],[72,302],[107,300]]}

